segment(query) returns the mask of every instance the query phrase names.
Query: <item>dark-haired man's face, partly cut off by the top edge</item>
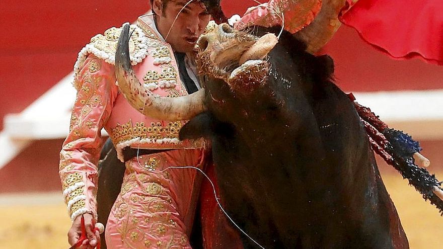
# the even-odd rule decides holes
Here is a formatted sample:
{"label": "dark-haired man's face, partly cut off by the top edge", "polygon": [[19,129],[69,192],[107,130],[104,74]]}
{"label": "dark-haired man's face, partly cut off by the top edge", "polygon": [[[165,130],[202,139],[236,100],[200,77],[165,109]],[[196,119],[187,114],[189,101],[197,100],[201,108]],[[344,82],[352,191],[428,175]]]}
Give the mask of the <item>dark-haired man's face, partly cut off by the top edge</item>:
{"label": "dark-haired man's face, partly cut off by the top edge", "polygon": [[157,28],[177,52],[192,51],[210,20],[203,4],[198,1],[187,3],[186,0],[170,0],[162,6],[162,0],[153,2],[153,10],[157,13]]}

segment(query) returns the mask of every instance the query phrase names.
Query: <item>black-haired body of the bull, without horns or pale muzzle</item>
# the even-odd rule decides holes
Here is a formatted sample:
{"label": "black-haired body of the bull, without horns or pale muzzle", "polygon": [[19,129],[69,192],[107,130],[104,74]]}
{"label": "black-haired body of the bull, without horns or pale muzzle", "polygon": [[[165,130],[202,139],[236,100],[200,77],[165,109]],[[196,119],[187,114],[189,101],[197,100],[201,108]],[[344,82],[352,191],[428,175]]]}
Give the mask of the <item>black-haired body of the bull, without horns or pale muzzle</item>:
{"label": "black-haired body of the bull, without horns or pale muzzle", "polygon": [[[181,137],[210,140],[227,212],[265,248],[408,248],[363,125],[330,80],[332,60],[304,48],[283,33],[268,55],[266,84],[251,93],[202,77],[208,111],[191,119]],[[98,193],[103,222],[122,174],[105,166]],[[257,248],[243,235],[242,241]]]}

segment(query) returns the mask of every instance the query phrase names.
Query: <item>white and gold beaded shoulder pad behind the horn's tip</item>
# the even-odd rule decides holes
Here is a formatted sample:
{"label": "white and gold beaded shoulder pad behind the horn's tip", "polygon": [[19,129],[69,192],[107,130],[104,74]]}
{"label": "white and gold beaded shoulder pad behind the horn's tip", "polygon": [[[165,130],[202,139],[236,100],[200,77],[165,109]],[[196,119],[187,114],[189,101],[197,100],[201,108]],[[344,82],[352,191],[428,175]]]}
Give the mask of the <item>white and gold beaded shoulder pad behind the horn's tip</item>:
{"label": "white and gold beaded shoulder pad behind the horn's tip", "polygon": [[[134,30],[134,33],[129,39],[129,59],[132,65],[136,65],[140,63],[148,53],[148,39],[145,37],[142,29],[137,25],[132,24],[130,28]],[[94,54],[99,59],[103,59],[105,62],[114,65],[115,51],[121,30],[122,28],[112,27],[106,30],[103,35],[98,34],[91,38],[91,42],[79,52],[79,57],[74,65],[74,72],[80,72],[80,68],[83,66],[89,54]]]}

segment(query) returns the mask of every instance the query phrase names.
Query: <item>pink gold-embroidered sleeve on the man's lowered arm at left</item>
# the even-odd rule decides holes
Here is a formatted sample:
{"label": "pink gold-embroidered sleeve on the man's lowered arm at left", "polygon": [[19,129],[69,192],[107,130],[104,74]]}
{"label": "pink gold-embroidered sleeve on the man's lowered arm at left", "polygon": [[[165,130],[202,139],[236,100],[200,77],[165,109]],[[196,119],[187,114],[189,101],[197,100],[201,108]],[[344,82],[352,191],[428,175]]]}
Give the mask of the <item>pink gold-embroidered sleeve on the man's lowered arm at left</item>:
{"label": "pink gold-embroidered sleeve on the man's lowered arm at left", "polygon": [[72,220],[84,213],[97,214],[97,162],[101,129],[118,93],[114,67],[89,55],[75,75],[78,90],[72,108],[69,134],[60,151],[59,175]]}

